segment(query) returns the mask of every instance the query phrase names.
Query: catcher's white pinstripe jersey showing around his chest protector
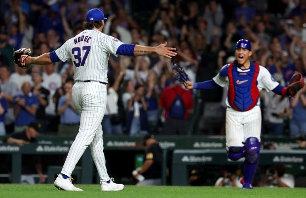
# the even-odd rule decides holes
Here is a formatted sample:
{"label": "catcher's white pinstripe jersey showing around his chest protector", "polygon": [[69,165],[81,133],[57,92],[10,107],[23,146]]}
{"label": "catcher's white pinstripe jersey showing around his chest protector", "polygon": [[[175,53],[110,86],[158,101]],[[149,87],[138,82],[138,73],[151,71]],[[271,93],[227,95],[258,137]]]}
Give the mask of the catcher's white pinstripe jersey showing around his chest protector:
{"label": "catcher's white pinstripe jersey showing around his chest protector", "polygon": [[[228,67],[229,64],[223,66],[222,69],[224,69],[225,67]],[[222,70],[221,69],[221,70]],[[243,73],[247,73],[250,70],[241,70],[239,68],[237,68],[238,72],[243,72]],[[215,76],[213,78],[213,80],[220,86],[222,87],[228,87],[229,88],[229,77],[221,77],[220,74],[218,73],[217,76]],[[257,88],[259,91],[261,91],[263,88],[266,89],[268,92],[273,90],[279,83],[274,81],[274,79],[271,77],[271,74],[269,73],[269,71],[264,68],[263,66],[259,66],[259,73],[258,73],[258,77],[257,77]],[[226,99],[226,104],[229,107],[229,100]],[[260,104],[260,100],[258,100],[257,105]]]}

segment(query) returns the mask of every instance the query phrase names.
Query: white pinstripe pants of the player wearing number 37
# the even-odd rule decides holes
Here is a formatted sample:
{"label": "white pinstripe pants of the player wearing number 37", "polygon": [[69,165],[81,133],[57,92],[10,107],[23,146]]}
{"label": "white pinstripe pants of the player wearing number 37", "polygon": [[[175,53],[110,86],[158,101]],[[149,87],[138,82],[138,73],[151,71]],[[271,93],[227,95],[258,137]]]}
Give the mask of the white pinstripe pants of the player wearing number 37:
{"label": "white pinstripe pants of the player wearing number 37", "polygon": [[91,155],[100,175],[100,181],[110,179],[103,153],[103,131],[101,121],[106,108],[106,85],[91,82],[76,82],[72,100],[76,111],[81,115],[79,131],[70,147],[62,172],[71,176],[76,163],[90,145]]}

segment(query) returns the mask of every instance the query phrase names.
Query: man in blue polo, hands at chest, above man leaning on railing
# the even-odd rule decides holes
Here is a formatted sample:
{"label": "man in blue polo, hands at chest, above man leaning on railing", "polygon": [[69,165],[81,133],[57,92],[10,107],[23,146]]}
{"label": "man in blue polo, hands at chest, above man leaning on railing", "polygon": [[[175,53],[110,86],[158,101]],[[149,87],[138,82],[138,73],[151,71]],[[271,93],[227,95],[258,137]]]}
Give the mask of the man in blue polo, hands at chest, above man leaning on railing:
{"label": "man in blue polo, hands at chest, above man leaning on railing", "polygon": [[20,132],[27,128],[27,125],[36,120],[36,112],[39,106],[37,95],[31,92],[30,82],[22,85],[22,94],[14,96],[15,131]]}

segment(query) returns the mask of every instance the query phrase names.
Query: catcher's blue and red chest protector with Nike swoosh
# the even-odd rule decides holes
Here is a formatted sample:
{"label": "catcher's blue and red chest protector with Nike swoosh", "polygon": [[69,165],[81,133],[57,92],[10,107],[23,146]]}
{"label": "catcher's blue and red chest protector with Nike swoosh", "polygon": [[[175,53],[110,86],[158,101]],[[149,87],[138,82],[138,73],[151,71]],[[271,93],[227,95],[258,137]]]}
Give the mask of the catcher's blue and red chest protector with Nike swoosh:
{"label": "catcher's blue and red chest protector with Nike swoosh", "polygon": [[248,70],[237,70],[233,62],[228,67],[229,91],[228,100],[232,108],[237,111],[248,111],[258,102],[259,90],[257,77],[259,73],[258,63],[250,62]]}

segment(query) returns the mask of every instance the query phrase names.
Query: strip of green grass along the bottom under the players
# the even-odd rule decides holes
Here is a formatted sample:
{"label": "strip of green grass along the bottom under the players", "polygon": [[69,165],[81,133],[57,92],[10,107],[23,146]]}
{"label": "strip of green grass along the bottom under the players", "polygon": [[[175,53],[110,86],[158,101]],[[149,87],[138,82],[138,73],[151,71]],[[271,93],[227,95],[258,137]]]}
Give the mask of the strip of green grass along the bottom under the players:
{"label": "strip of green grass along the bottom under the players", "polygon": [[100,185],[76,185],[83,192],[57,190],[52,184],[0,184],[0,198],[306,198],[306,188],[238,188],[186,186],[125,186],[120,192],[101,192]]}

